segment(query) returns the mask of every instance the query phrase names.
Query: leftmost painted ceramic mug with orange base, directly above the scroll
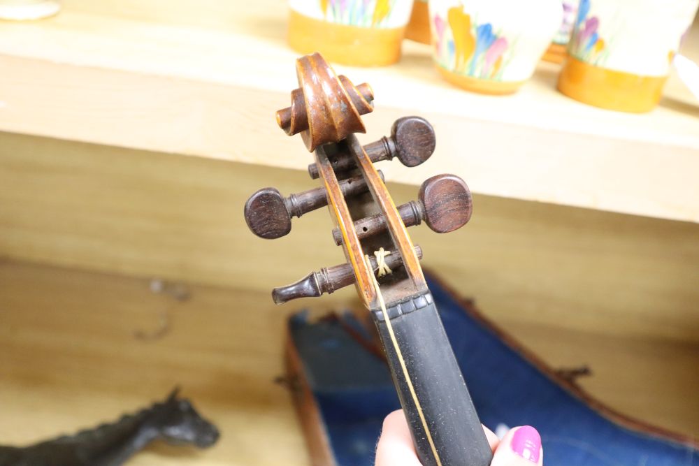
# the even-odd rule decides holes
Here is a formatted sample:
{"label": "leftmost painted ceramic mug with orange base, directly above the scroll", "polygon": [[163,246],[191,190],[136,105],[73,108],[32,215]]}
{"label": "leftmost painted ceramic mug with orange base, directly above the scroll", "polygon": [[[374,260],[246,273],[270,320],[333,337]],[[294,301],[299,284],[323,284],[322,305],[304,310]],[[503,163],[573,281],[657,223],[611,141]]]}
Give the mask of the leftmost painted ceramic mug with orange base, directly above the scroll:
{"label": "leftmost painted ceramic mug with orange base, directly above the scroll", "polygon": [[412,1],[289,0],[289,45],[347,65],[395,63]]}

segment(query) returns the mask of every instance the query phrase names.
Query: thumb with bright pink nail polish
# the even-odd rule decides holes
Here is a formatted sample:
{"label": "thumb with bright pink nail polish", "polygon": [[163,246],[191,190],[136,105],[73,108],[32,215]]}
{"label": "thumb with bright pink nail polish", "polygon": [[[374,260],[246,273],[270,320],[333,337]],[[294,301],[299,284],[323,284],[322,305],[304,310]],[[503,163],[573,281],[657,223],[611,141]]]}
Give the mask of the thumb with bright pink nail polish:
{"label": "thumb with bright pink nail polish", "polygon": [[533,466],[544,464],[541,437],[533,427],[525,425],[507,432],[498,445],[491,466]]}

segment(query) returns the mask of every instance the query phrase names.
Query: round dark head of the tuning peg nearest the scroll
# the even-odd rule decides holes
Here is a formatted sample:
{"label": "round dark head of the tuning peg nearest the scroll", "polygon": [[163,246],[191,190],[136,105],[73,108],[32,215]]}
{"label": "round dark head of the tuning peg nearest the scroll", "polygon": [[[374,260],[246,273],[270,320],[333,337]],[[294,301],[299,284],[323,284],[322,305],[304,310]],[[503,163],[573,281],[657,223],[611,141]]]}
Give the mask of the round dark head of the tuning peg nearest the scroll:
{"label": "round dark head of the tuning peg nearest the scroll", "polygon": [[396,156],[403,165],[418,166],[435,152],[437,139],[429,122],[420,117],[403,117],[394,122],[391,140],[396,145]]}

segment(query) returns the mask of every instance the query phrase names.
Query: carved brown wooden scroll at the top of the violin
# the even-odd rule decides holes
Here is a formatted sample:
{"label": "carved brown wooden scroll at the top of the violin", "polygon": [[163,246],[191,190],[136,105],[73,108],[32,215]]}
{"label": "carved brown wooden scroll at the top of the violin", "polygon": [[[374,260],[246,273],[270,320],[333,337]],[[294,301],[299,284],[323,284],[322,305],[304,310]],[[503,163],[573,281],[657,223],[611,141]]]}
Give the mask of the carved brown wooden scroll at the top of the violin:
{"label": "carved brown wooden scroll at the top of the violin", "polygon": [[361,115],[373,110],[373,92],[364,83],[354,86],[318,54],[296,60],[298,89],[291,92],[291,106],[277,112],[277,124],[289,136],[301,133],[309,152],[326,143],[337,143],[352,133],[366,133]]}

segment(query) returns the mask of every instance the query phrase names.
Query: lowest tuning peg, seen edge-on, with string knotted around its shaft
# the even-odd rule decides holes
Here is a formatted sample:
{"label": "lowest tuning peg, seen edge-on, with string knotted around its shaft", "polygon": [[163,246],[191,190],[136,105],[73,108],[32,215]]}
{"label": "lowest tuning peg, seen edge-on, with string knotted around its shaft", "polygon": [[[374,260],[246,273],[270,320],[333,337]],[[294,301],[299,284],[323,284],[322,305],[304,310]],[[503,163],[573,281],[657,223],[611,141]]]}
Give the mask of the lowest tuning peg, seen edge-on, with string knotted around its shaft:
{"label": "lowest tuning peg, seen edge-on, with string knotted around its shaft", "polygon": [[[422,248],[415,245],[417,259],[422,259]],[[388,268],[396,268],[403,263],[401,254],[394,252],[384,256],[385,265]],[[376,271],[379,264],[374,256],[369,256],[372,270]],[[318,272],[311,272],[296,283],[287,286],[280,286],[272,290],[272,299],[275,304],[283,304],[296,298],[312,298],[321,296],[323,293],[333,293],[334,291],[349,286],[354,283],[356,277],[352,264],[344,263],[334,265],[329,268],[322,268]]]}

